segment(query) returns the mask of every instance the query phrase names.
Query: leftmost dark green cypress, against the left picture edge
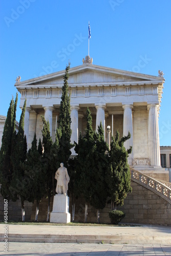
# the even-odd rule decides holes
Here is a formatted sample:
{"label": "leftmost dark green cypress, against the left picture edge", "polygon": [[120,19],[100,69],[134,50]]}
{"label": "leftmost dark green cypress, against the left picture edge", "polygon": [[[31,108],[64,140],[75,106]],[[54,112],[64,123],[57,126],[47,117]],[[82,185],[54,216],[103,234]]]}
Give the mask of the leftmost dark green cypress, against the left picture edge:
{"label": "leftmost dark green cypress, against the left picture edge", "polygon": [[1,194],[4,198],[10,200],[13,195],[10,191],[10,183],[12,179],[13,166],[11,163],[11,155],[13,150],[13,144],[16,136],[15,132],[15,117],[16,117],[16,105],[18,95],[16,94],[15,102],[12,99],[7,113],[7,118],[4,126],[4,132],[2,137],[2,146],[0,150],[0,183]]}

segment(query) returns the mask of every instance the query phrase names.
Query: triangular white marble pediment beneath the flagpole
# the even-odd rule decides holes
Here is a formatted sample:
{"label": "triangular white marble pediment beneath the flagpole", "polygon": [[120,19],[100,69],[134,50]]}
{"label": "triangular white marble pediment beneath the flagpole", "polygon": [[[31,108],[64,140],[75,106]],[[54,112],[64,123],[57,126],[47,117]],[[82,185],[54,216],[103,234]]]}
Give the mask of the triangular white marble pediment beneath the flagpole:
{"label": "triangular white marble pediment beneath the flagpole", "polygon": [[[49,75],[33,78],[26,81],[16,82],[15,86],[21,87],[46,87],[57,86],[63,84],[63,75],[65,70],[52,73]],[[84,64],[69,70],[69,86],[84,86],[93,84],[129,84],[129,83],[149,83],[163,82],[163,77],[144,75],[140,73],[123,71],[118,69],[106,68],[92,64]]]}

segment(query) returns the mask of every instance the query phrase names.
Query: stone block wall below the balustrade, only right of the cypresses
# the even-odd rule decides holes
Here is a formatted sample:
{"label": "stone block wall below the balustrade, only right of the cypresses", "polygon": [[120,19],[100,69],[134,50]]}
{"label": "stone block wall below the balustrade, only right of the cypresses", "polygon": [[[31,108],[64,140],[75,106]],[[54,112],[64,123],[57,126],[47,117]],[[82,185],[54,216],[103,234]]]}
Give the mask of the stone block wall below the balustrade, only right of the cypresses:
{"label": "stone block wall below the balustrade, only right of the cypresses", "polygon": [[126,214],[122,222],[171,225],[171,204],[136,182],[131,186],[132,193],[118,207]]}

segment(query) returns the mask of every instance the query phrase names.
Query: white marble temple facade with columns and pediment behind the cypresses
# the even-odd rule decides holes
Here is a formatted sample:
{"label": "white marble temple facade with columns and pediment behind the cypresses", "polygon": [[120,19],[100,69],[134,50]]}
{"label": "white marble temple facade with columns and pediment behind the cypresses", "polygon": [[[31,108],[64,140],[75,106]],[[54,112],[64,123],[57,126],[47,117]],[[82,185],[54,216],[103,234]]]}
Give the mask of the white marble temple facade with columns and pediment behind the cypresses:
{"label": "white marble temple facade with columns and pediment behind the cypresses", "polygon": [[[25,134],[28,148],[36,132],[41,138],[41,115],[49,120],[52,140],[59,116],[61,88],[65,70],[15,83],[21,93],[20,108],[25,98]],[[89,106],[93,129],[102,122],[104,136],[111,126],[111,136],[119,130],[120,136],[130,131],[132,137],[125,147],[133,147],[130,165],[160,166],[158,115],[164,78],[83,63],[69,70],[71,95],[71,143],[78,141],[86,127]],[[75,155],[74,148],[72,155]],[[141,161],[141,159],[146,159]]]}

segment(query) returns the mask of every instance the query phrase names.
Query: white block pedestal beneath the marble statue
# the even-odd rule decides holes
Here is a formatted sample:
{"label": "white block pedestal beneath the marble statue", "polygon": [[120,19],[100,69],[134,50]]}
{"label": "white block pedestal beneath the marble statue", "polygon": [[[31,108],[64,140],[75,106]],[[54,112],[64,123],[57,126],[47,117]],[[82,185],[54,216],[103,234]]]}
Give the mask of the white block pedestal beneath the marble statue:
{"label": "white block pedestal beneath the marble statue", "polygon": [[69,213],[69,197],[65,195],[55,195],[53,198],[53,209],[50,214],[50,222],[52,223],[68,223],[71,222]]}

